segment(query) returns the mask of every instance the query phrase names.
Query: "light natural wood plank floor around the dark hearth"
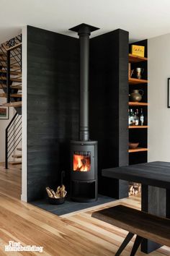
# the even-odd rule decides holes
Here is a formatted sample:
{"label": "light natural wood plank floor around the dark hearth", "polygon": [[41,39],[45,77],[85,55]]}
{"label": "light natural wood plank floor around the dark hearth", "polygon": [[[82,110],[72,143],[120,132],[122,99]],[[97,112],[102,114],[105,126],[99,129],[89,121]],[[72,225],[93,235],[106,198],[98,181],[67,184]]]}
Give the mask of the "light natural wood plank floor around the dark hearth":
{"label": "light natural wood plank floor around the dark hearth", "polygon": [[[116,205],[119,201],[58,217],[17,198],[21,186],[19,170],[15,173],[15,168],[4,173],[4,168],[0,167],[0,255],[115,255],[127,232],[91,218],[91,213],[93,210]],[[140,209],[140,197],[130,197],[121,202]],[[23,246],[43,246],[43,253],[5,253],[4,246],[9,240],[21,242]],[[131,242],[122,256],[128,256],[132,246]],[[136,255],[145,254],[138,250]],[[150,255],[170,255],[170,248],[162,247]]]}

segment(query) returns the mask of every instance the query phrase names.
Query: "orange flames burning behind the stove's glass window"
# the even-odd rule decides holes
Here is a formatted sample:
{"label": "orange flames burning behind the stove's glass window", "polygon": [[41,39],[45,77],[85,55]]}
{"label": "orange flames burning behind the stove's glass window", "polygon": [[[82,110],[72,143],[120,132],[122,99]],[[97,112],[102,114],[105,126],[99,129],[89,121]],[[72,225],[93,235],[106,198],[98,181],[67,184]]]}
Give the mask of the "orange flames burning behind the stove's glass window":
{"label": "orange flames burning behind the stove's glass window", "polygon": [[73,171],[90,171],[91,153],[74,152],[73,153]]}

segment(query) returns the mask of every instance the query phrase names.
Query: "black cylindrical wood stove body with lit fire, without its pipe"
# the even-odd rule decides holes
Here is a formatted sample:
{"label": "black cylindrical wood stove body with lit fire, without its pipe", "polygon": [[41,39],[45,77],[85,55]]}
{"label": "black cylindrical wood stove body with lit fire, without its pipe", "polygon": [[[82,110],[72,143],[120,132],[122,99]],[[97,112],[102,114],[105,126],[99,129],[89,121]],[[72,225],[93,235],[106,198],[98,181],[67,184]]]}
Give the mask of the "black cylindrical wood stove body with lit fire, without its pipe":
{"label": "black cylindrical wood stove body with lit fire, without its pipe", "polygon": [[97,141],[71,141],[71,198],[97,200]]}

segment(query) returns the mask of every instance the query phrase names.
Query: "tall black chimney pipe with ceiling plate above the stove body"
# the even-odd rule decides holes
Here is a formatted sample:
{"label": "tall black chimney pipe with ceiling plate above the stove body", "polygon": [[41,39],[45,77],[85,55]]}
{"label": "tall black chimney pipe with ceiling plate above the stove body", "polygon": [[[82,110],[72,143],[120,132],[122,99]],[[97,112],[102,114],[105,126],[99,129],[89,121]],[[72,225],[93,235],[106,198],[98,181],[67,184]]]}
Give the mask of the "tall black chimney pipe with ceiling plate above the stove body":
{"label": "tall black chimney pipe with ceiling plate above the stove body", "polygon": [[82,23],[70,30],[76,31],[80,39],[80,126],[79,140],[89,140],[89,36],[98,30]]}

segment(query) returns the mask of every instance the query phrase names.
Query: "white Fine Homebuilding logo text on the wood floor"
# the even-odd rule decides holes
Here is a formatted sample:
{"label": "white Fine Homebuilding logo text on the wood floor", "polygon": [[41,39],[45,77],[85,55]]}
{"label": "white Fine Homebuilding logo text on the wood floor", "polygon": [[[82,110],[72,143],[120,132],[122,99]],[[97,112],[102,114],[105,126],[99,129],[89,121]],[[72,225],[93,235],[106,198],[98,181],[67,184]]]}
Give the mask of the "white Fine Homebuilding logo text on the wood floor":
{"label": "white Fine Homebuilding logo text on the wood floor", "polygon": [[22,246],[19,242],[9,241],[5,245],[5,252],[43,252],[43,247],[36,245]]}

